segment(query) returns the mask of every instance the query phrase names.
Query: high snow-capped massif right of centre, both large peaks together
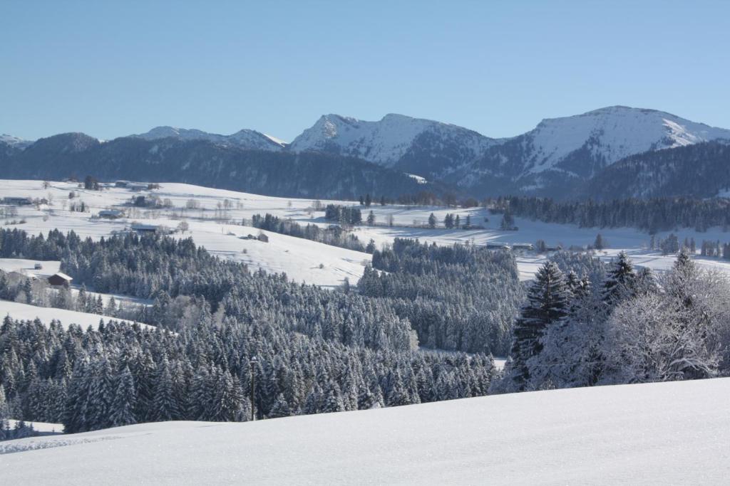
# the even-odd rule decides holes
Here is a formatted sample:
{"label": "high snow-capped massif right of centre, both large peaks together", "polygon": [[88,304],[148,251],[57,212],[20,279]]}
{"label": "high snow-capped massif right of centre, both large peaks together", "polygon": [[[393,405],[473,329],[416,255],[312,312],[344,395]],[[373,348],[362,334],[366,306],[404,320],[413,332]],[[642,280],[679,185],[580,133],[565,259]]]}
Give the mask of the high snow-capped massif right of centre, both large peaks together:
{"label": "high snow-capped massif right of centre, both large peaks together", "polygon": [[328,114],[289,149],[359,157],[465,189],[554,195],[625,157],[718,138],[730,139],[730,130],[664,111],[610,106],[544,119],[502,139],[398,114],[377,122]]}

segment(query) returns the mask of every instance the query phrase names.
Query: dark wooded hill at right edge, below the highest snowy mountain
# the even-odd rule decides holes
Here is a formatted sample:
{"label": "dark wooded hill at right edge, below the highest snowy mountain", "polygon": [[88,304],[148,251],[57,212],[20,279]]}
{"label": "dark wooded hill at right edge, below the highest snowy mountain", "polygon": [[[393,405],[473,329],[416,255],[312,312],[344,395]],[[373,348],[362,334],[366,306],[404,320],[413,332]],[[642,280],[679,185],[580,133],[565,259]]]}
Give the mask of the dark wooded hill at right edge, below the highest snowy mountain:
{"label": "dark wooded hill at right edge, below the highest snowy mountain", "polygon": [[580,195],[712,197],[729,188],[730,145],[712,141],[627,157],[588,181]]}

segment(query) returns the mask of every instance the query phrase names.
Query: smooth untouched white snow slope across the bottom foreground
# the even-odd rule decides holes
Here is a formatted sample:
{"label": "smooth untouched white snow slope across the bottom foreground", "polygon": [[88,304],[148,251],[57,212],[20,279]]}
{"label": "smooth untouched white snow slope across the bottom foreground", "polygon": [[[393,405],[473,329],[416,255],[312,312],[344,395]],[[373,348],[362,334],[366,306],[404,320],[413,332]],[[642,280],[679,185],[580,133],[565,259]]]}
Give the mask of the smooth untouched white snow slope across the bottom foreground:
{"label": "smooth untouched white snow slope across the bottom foreground", "polygon": [[9,485],[723,484],[729,394],[718,379],[151,423],[6,442],[0,468]]}

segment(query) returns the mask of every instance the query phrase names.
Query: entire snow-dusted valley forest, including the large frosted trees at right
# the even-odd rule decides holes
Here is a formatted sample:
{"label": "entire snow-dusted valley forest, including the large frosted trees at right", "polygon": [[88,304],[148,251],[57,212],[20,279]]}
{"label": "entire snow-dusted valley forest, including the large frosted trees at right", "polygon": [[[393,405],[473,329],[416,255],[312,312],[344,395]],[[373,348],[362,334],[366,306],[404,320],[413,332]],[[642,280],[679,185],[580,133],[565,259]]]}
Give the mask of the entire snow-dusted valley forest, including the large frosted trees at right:
{"label": "entire snow-dusted valley forest, including the large frosted trees at right", "polygon": [[[151,302],[134,314],[143,324],[2,321],[0,419],[68,432],[730,372],[728,281],[686,249],[661,275],[626,254],[605,263],[559,251],[526,286],[510,251],[396,239],[374,250],[357,286],[335,290],[163,235],[0,230],[0,257],[58,259],[93,291]],[[37,294],[0,275],[1,298]],[[82,299],[101,313],[100,299]],[[492,354],[509,356],[504,371]]]}

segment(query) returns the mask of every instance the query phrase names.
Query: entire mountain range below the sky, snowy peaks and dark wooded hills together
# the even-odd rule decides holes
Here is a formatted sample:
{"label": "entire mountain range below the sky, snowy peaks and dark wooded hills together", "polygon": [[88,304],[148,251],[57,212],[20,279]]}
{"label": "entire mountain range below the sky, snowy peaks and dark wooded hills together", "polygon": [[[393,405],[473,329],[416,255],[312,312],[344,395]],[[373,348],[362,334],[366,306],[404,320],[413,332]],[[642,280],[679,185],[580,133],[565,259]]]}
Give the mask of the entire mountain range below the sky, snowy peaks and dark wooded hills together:
{"label": "entire mountain range below the sky, snowy peaks and dark wooded hills together", "polygon": [[[127,149],[115,151],[113,164],[118,171],[112,171],[111,167],[105,169],[110,177],[134,177],[138,165],[159,164],[151,160],[161,157],[169,172],[155,177],[172,181],[184,176],[191,181],[199,178],[201,184],[203,180],[212,184],[210,181],[216,178],[201,171],[207,168],[220,173],[223,167],[216,165],[220,160],[196,159],[202,157],[199,151],[203,146],[210,151],[211,157],[245,160],[237,162],[235,172],[239,174],[248,173],[240,166],[242,163],[252,169],[257,167],[256,171],[263,170],[259,167],[261,161],[271,160],[274,153],[280,154],[277,160],[291,163],[302,160],[307,154],[305,158],[310,163],[320,160],[322,166],[335,161],[340,168],[349,165],[349,179],[342,184],[334,184],[334,192],[325,191],[326,194],[321,197],[334,196],[335,193],[342,196],[348,191],[353,191],[353,195],[363,192],[357,184],[364,179],[355,174],[364,170],[376,179],[402,181],[402,184],[388,185],[389,190],[395,192],[451,188],[459,195],[475,197],[508,193],[560,198],[672,194],[705,197],[730,185],[727,174],[730,160],[723,142],[730,141],[730,130],[691,122],[664,111],[626,106],[610,106],[573,117],[544,119],[534,130],[512,138],[489,138],[456,125],[399,114],[385,115],[377,122],[336,114],[323,115],[291,144],[255,130],[240,130],[225,136],[172,127],[153,128],[147,133],[117,138],[104,144],[82,134],[66,134],[60,145],[49,142],[53,138],[29,142],[1,136],[0,167],[5,168],[3,172],[9,177],[19,177],[32,169],[36,176],[42,176],[75,168],[74,173],[80,173],[79,163],[84,157],[78,154],[92,148],[92,152],[106,154],[112,151],[104,146],[112,144]],[[141,141],[151,144],[148,150],[161,151],[161,154],[136,152]],[[713,144],[713,141],[718,142]],[[34,150],[38,144],[43,148]],[[175,150],[174,160],[170,160],[167,154],[172,149]],[[242,155],[242,152],[250,153]],[[711,159],[707,158],[709,154],[712,154]],[[59,160],[64,162],[60,166]],[[190,165],[193,160],[195,167]],[[693,172],[699,165],[705,171],[699,178],[704,181],[703,184],[697,182],[699,179]],[[93,168],[88,170],[93,171]],[[124,173],[126,170],[131,173]],[[294,169],[270,173],[267,178],[287,178],[292,173],[299,172]],[[626,175],[629,173],[630,177]],[[418,184],[423,180],[418,181],[405,174],[420,176],[437,185]],[[216,184],[232,184],[224,180],[225,176],[219,174],[219,177],[221,179]],[[234,179],[236,184],[245,183],[237,177]],[[353,186],[355,179],[360,183]],[[696,183],[690,187],[689,180]],[[272,179],[267,179],[266,184],[278,187],[279,192],[291,187]],[[266,189],[266,184],[258,184],[259,189]],[[388,195],[385,189],[378,190],[377,185],[370,182],[366,185],[376,194]],[[247,184],[247,190],[252,186],[256,184]],[[326,188],[320,185],[315,190],[299,184],[298,192],[289,195],[302,195],[301,191],[320,193],[323,189]]]}

